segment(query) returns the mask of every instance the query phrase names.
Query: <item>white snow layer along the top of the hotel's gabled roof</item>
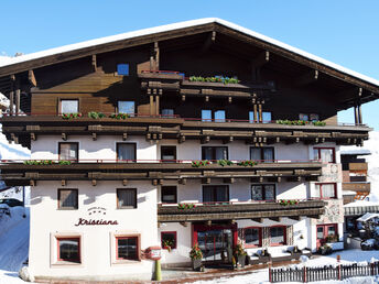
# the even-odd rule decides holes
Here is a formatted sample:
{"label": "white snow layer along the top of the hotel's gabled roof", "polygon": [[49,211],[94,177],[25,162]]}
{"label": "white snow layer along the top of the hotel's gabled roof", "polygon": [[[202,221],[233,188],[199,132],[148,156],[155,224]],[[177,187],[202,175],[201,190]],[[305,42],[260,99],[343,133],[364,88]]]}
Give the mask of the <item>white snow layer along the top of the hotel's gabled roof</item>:
{"label": "white snow layer along the top of the hotel's gabled roof", "polygon": [[23,62],[28,62],[28,61],[32,61],[32,59],[37,59],[37,58],[42,58],[42,57],[50,56],[50,55],[63,54],[63,53],[66,53],[66,52],[82,50],[82,48],[86,48],[86,47],[91,47],[91,46],[96,46],[96,45],[100,45],[100,44],[107,44],[107,43],[112,43],[112,42],[117,42],[117,41],[128,40],[128,39],[132,39],[132,37],[137,37],[137,36],[151,35],[151,34],[154,34],[154,33],[169,32],[169,31],[173,31],[173,30],[192,28],[192,26],[209,24],[209,23],[218,23],[218,24],[225,25],[225,26],[227,26],[229,29],[232,29],[232,30],[236,30],[238,32],[245,33],[245,34],[250,35],[252,37],[256,37],[258,40],[261,40],[261,41],[264,41],[267,43],[270,43],[272,45],[277,45],[277,46],[279,46],[281,48],[284,48],[284,50],[288,50],[290,52],[293,52],[293,53],[295,53],[297,55],[301,55],[303,57],[306,57],[306,58],[308,58],[311,61],[317,62],[320,64],[326,65],[326,66],[328,66],[331,68],[334,68],[336,70],[339,70],[342,73],[345,73],[347,75],[354,76],[354,77],[359,78],[361,80],[365,80],[365,81],[368,81],[370,84],[379,86],[379,80],[377,80],[377,79],[373,79],[373,78],[368,77],[366,75],[362,75],[360,73],[350,70],[348,68],[345,68],[345,67],[343,67],[340,65],[337,65],[337,64],[332,63],[329,61],[326,61],[324,58],[321,58],[318,56],[315,56],[313,54],[310,54],[307,52],[304,52],[302,50],[299,50],[296,47],[293,47],[291,45],[282,43],[280,41],[273,40],[273,39],[271,39],[269,36],[263,35],[263,34],[257,33],[255,31],[251,31],[249,29],[246,29],[243,26],[237,25],[235,23],[231,23],[231,22],[218,19],[218,18],[204,18],[204,19],[198,19],[198,20],[192,20],[192,21],[178,22],[178,23],[173,23],[173,24],[166,24],[166,25],[161,25],[161,26],[155,26],[155,28],[150,28],[150,29],[143,29],[143,30],[134,31],[134,32],[128,32],[128,33],[122,33],[122,34],[118,34],[118,35],[100,37],[100,39],[96,39],[96,40],[91,40],[91,41],[86,41],[86,42],[82,42],[82,43],[64,45],[64,46],[61,46],[61,47],[51,48],[51,50],[46,50],[46,51],[42,51],[42,52],[25,54],[25,55],[12,57],[9,61],[0,62],[0,68],[4,67],[4,66],[10,66],[10,65],[13,65],[13,64],[18,64],[18,63],[23,63]]}

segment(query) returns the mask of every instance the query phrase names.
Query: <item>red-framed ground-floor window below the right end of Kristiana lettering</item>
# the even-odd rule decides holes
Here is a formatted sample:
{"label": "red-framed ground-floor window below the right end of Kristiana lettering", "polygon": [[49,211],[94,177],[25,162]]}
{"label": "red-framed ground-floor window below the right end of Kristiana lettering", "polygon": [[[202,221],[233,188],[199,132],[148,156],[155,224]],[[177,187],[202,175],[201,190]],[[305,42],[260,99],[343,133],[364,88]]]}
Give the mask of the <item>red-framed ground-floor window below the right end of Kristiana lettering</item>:
{"label": "red-framed ground-floor window below the right end of Kristiana lettering", "polygon": [[139,237],[116,237],[116,260],[140,260]]}

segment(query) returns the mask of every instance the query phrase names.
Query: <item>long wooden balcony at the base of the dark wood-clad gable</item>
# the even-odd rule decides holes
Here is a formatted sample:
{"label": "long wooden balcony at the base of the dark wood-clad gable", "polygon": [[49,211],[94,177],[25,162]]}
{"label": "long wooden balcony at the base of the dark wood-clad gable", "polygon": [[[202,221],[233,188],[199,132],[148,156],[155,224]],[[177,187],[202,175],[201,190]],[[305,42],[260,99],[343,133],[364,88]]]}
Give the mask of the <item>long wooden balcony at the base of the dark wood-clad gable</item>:
{"label": "long wooden balcony at the base of the dark wood-clad gable", "polygon": [[202,121],[198,118],[163,118],[161,116],[137,116],[124,120],[82,117],[64,120],[59,116],[4,116],[0,118],[2,132],[9,141],[30,146],[31,140],[39,135],[71,134],[91,135],[144,135],[147,140],[175,139],[180,143],[186,140],[221,140],[224,143],[245,140],[247,143],[263,145],[278,142],[317,144],[336,142],[338,144],[360,144],[368,139],[371,130],[366,125],[288,125],[271,123],[249,123],[249,121],[226,120]]}

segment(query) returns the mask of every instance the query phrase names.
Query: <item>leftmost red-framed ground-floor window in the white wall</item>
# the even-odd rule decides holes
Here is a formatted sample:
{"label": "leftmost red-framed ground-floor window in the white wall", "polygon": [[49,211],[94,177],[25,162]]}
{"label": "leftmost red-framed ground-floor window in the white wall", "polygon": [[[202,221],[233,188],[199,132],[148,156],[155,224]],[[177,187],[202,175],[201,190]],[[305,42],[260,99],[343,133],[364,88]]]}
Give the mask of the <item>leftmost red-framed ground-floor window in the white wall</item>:
{"label": "leftmost red-framed ground-floor window in the white wall", "polygon": [[57,260],[80,263],[80,238],[56,238]]}

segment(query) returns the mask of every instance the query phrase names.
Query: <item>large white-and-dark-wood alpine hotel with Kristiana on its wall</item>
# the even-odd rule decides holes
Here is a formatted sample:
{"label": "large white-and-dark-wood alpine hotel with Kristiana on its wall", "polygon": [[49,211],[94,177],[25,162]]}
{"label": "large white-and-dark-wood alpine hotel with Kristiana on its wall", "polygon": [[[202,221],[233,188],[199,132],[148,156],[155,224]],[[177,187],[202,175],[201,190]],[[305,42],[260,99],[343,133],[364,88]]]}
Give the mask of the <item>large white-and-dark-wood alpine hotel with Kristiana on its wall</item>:
{"label": "large white-and-dark-wood alpine hotel with Kristiana on its wall", "polygon": [[[151,278],[162,265],[343,249],[339,145],[361,145],[379,81],[219,19],[22,55],[0,66],[0,119],[31,161],[36,280]],[[355,124],[337,111],[355,107]],[[261,255],[263,249],[271,254]]]}

